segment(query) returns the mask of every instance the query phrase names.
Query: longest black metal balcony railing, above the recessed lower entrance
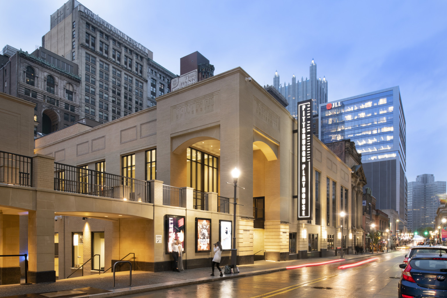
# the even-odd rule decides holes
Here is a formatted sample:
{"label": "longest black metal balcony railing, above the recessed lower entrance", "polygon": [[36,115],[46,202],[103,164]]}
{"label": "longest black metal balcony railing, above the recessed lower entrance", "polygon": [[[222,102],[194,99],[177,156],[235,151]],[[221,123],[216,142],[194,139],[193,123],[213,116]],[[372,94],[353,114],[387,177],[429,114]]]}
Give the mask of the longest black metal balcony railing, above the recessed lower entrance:
{"label": "longest black metal balcony railing, above the recessed lower entrance", "polygon": [[55,190],[152,203],[149,181],[55,163]]}

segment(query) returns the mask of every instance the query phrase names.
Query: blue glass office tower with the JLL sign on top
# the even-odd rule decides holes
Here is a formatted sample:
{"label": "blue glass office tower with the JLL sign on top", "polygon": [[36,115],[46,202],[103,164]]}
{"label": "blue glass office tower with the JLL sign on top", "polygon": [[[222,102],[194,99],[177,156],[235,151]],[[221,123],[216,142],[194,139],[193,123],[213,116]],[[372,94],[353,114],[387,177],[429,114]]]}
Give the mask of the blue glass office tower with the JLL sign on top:
{"label": "blue glass office tower with the JLL sign on top", "polygon": [[377,209],[394,209],[406,223],[405,115],[399,86],[321,104],[319,110],[320,140],[354,142]]}

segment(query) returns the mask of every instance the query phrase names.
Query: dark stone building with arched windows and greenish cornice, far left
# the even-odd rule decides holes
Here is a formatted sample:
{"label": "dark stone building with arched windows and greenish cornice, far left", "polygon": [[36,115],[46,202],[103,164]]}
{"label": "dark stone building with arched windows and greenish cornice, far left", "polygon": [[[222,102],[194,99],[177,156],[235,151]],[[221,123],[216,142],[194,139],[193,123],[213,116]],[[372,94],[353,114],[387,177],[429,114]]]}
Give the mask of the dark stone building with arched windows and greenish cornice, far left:
{"label": "dark stone building with arched windows and greenish cornice, far left", "polygon": [[49,134],[79,120],[78,65],[42,47],[18,50],[0,71],[0,91],[33,102],[34,136]]}

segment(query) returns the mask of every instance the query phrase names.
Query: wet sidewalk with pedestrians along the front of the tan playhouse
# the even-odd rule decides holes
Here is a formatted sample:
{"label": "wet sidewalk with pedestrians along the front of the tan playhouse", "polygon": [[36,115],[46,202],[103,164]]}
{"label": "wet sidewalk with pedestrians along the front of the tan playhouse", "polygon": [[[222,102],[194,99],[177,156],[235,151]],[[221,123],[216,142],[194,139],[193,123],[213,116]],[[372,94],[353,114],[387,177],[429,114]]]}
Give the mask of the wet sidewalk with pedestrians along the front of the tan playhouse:
{"label": "wet sidewalk with pedestrians along the front of the tan playhouse", "polygon": [[[400,251],[390,251],[396,253],[403,253]],[[364,253],[363,255],[346,255],[345,260],[348,262],[354,259],[369,258],[384,254],[380,253]],[[45,284],[32,284],[32,285],[0,285],[0,298],[15,296],[15,298],[27,298],[26,294],[33,294],[34,298],[49,298],[49,297],[65,297],[65,295],[77,294],[77,297],[92,297],[92,298],[105,298],[114,297],[118,295],[127,295],[142,293],[154,290],[162,290],[173,287],[179,287],[184,285],[194,285],[212,281],[219,281],[230,278],[244,277],[255,274],[269,273],[275,271],[287,270],[287,266],[294,266],[307,263],[318,263],[328,260],[336,260],[336,256],[324,257],[324,258],[309,258],[305,260],[291,260],[283,262],[270,262],[270,261],[256,261],[255,264],[240,265],[238,266],[240,273],[227,274],[223,277],[219,277],[219,271],[215,277],[211,277],[210,268],[198,268],[187,269],[185,271],[173,272],[146,272],[146,271],[132,271],[132,285],[129,286],[129,271],[117,272],[115,274],[115,288],[113,288],[113,273],[94,274],[84,277],[73,277],[69,279],[61,279],[53,283]],[[340,264],[346,264],[346,261],[341,261]],[[223,270],[222,265],[221,269]],[[215,272],[216,273],[216,272]],[[70,291],[76,289],[76,292],[67,293],[51,293]],[[36,295],[40,293],[41,295]],[[43,294],[45,293],[45,294]],[[22,296],[17,296],[22,295]]]}

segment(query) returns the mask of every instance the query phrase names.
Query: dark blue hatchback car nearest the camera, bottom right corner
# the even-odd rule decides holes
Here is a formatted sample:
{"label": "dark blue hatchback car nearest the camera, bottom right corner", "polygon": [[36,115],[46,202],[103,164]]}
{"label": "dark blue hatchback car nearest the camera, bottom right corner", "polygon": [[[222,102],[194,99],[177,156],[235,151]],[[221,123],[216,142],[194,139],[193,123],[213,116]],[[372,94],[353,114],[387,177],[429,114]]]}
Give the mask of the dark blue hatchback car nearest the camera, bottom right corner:
{"label": "dark blue hatchback car nearest the camera, bottom right corner", "polygon": [[421,253],[399,266],[399,298],[447,297],[447,254]]}

